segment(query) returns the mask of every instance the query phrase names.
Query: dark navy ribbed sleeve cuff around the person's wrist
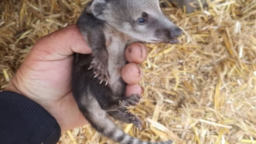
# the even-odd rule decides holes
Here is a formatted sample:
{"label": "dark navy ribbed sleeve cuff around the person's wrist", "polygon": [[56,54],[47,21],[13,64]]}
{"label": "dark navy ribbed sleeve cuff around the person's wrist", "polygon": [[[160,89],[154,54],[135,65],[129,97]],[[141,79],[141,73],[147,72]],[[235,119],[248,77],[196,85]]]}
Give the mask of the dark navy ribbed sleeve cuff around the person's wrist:
{"label": "dark navy ribbed sleeve cuff around the person's wrist", "polygon": [[41,105],[15,92],[0,92],[0,144],[56,144],[61,128]]}

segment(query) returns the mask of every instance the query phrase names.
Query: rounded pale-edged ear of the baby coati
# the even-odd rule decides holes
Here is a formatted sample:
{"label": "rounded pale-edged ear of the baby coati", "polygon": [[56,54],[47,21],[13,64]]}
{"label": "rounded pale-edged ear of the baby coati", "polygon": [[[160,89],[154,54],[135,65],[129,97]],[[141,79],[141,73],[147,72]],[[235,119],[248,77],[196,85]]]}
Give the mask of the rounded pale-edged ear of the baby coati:
{"label": "rounded pale-edged ear of the baby coati", "polygon": [[91,4],[91,12],[98,19],[104,20],[104,11],[107,9],[108,0],[93,0]]}

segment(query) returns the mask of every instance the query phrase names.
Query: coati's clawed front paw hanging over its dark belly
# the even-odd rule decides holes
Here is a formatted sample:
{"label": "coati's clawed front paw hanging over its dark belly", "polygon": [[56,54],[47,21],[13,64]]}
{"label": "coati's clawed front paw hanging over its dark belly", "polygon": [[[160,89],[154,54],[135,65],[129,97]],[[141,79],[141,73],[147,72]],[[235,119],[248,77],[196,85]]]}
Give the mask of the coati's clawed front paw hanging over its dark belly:
{"label": "coati's clawed front paw hanging over its dark belly", "polygon": [[106,82],[105,85],[108,84],[108,80],[110,78],[109,72],[108,72],[108,60],[100,59],[98,57],[93,58],[93,61],[91,62],[90,68],[93,68],[93,73],[95,74],[94,77],[98,77],[100,80],[100,84],[102,84],[103,81]]}

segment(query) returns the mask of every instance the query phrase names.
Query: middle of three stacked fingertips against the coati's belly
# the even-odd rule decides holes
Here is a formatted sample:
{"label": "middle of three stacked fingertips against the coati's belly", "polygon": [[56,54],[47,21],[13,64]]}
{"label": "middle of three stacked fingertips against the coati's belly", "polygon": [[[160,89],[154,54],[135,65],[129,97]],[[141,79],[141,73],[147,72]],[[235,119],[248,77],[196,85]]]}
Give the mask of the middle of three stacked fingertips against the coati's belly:
{"label": "middle of three stacked fingertips against the coati's belly", "polygon": [[128,63],[122,68],[121,77],[127,84],[137,84],[143,77],[143,71],[137,64]]}

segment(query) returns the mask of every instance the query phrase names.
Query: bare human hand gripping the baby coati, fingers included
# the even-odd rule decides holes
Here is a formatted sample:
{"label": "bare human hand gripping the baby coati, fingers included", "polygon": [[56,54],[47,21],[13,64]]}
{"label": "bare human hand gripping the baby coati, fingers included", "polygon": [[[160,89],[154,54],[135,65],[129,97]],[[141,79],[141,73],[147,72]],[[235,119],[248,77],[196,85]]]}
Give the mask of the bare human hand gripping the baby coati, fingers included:
{"label": "bare human hand gripping the baby coati, fingers included", "polygon": [[[18,69],[6,90],[20,93],[43,106],[61,127],[61,132],[88,124],[78,110],[71,91],[74,52],[91,53],[76,25],[40,38]],[[145,45],[133,43],[126,49],[122,78],[128,84],[126,94],[141,95],[143,72],[136,64],[147,57]],[[128,78],[129,77],[129,78]]]}

